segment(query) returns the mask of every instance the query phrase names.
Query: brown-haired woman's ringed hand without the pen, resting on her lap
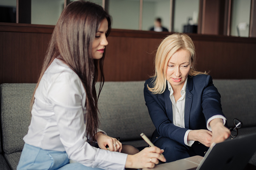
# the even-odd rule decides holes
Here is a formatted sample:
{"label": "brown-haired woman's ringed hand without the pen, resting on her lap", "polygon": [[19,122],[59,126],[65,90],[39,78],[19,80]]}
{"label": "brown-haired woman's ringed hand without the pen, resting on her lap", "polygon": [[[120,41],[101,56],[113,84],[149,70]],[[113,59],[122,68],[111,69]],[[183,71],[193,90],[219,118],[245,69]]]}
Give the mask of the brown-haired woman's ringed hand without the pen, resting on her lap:
{"label": "brown-haired woman's ringed hand without the pen, resting on her lap", "polygon": [[96,141],[100,149],[107,150],[106,146],[108,145],[109,151],[121,152],[122,144],[114,137],[109,137],[101,132],[96,133]]}

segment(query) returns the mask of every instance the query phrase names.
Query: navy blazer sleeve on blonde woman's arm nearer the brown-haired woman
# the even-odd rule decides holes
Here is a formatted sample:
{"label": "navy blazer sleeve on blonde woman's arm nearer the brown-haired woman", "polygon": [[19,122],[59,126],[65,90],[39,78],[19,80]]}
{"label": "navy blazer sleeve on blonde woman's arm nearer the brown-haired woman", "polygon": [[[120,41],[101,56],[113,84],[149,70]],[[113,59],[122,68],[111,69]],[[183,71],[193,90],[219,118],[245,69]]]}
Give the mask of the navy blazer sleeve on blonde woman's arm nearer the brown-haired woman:
{"label": "navy blazer sleeve on blonde woman's arm nearer the brown-haired woman", "polygon": [[[148,107],[149,115],[156,127],[158,134],[162,137],[168,137],[176,142],[179,142],[180,144],[185,145],[184,136],[188,129],[175,126],[171,122],[172,118],[170,118],[171,120],[168,118],[165,110],[164,94],[152,94],[148,90],[147,85],[148,80],[146,80],[144,84],[144,99],[146,106]],[[162,95],[163,101],[159,100],[160,95]],[[169,115],[169,117],[170,116],[172,115]]]}

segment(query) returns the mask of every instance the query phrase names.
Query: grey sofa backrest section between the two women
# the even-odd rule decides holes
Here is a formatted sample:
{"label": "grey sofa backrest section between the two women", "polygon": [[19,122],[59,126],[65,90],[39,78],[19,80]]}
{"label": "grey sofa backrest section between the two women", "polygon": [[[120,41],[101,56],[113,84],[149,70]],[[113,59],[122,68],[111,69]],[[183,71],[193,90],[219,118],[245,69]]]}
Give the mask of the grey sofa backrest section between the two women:
{"label": "grey sofa backrest section between the two women", "polygon": [[98,102],[100,129],[121,141],[141,140],[142,132],[151,137],[155,127],[145,105],[144,83],[105,82]]}

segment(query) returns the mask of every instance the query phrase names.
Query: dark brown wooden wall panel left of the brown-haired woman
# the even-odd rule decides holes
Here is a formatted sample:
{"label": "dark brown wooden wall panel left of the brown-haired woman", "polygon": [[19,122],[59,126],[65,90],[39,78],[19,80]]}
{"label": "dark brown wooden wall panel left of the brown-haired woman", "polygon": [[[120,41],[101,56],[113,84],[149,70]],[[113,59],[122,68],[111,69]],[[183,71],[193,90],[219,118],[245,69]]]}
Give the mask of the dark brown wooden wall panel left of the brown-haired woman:
{"label": "dark brown wooden wall panel left of the brown-haired woman", "polygon": [[0,83],[37,81],[51,34],[0,32]]}

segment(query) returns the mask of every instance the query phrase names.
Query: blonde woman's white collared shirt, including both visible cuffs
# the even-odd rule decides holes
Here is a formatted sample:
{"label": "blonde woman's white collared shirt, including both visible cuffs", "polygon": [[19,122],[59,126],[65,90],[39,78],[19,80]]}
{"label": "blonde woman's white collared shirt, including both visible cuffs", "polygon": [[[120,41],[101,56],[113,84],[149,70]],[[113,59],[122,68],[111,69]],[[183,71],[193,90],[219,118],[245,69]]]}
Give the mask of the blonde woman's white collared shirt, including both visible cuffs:
{"label": "blonde woman's white collared shirt, including both visible cuffs", "polygon": [[[185,80],[185,83],[180,91],[180,99],[177,100],[177,102],[175,101],[174,99],[174,96],[173,96],[173,89],[172,89],[172,86],[170,84],[169,81],[167,81],[167,85],[168,85],[168,89],[170,91],[170,99],[172,101],[172,123],[175,125],[175,126],[178,126],[180,128],[185,128],[185,116],[184,116],[184,113],[185,113],[185,99],[186,99],[186,87],[187,87],[187,81],[188,81],[188,78],[186,78]],[[211,127],[210,127],[210,122],[213,120],[213,119],[216,119],[216,118],[221,118],[223,119],[223,124],[226,123],[226,118],[222,115],[214,115],[212,116],[210,119],[208,119],[207,121],[207,129],[208,130],[212,130]],[[184,143],[187,145],[187,146],[192,146],[192,144],[194,144],[195,141],[189,141],[188,140],[188,133],[190,132],[191,130],[187,130],[186,133],[185,133],[185,136],[184,136]]]}

